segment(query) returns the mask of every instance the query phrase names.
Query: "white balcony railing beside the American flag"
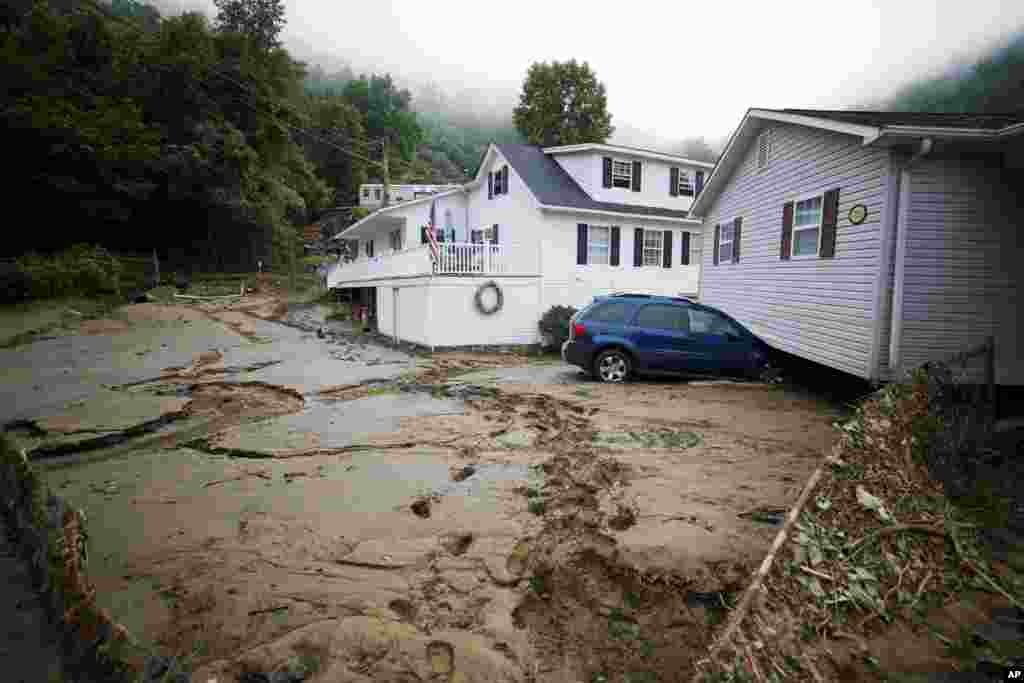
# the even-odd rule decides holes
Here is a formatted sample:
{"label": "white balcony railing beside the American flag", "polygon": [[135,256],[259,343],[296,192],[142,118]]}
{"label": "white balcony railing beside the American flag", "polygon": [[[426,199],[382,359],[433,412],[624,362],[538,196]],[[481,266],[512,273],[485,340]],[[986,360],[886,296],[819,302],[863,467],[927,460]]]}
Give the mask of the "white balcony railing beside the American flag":
{"label": "white balcony railing beside the American flag", "polygon": [[417,245],[372,258],[364,257],[350,263],[336,263],[328,272],[328,287],[410,275],[487,275],[536,270],[532,259],[510,258],[525,257],[526,252],[510,249],[506,245],[442,242],[438,248],[436,263],[429,245]]}

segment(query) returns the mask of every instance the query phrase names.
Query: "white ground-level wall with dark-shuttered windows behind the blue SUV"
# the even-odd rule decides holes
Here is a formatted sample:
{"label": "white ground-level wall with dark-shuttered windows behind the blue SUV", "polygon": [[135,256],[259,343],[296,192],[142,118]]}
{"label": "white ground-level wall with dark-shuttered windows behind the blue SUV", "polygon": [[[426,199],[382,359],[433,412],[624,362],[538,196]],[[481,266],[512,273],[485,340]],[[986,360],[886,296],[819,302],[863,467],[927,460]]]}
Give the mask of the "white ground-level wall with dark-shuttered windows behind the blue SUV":
{"label": "white ground-level wall with dark-shuttered windows behind the blue SUV", "polygon": [[[620,265],[578,265],[577,225],[618,225]],[[634,228],[671,229],[672,267],[633,266]],[[682,232],[690,236],[690,263],[680,265]],[[643,223],[592,215],[547,213],[543,242],[544,307],[574,306],[590,303],[598,295],[616,291],[635,291],[665,296],[693,295],[700,272],[700,226],[684,228],[665,222]]]}

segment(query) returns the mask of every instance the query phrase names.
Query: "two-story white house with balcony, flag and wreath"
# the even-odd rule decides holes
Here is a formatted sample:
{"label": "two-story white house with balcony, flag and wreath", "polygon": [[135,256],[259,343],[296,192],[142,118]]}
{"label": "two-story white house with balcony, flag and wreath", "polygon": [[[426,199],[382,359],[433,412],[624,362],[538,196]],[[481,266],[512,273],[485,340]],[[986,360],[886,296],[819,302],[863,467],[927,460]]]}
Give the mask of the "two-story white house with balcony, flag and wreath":
{"label": "two-story white house with balcony, flag and wreath", "polygon": [[[693,296],[700,222],[688,209],[712,167],[607,144],[492,144],[471,182],[342,230],[358,258],[328,284],[357,290],[379,331],[431,347],[536,343],[545,310],[598,294]],[[485,314],[477,292],[490,281],[504,305]]]}

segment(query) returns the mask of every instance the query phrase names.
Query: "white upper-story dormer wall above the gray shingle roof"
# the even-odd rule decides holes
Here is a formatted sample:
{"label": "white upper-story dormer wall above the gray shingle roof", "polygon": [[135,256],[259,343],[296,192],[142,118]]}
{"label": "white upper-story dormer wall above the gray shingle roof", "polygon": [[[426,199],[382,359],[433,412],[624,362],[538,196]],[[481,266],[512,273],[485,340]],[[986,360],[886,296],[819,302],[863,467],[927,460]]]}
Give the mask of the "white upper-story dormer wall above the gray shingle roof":
{"label": "white upper-story dormer wall above the gray shingle roof", "polygon": [[[604,167],[602,159],[611,157],[624,161],[639,161],[642,165],[640,191],[635,193],[625,187],[604,187]],[[638,155],[625,153],[572,153],[554,157],[555,161],[572,176],[584,191],[598,202],[614,202],[616,204],[642,204],[644,206],[660,207],[686,211],[693,204],[692,197],[673,197],[669,193],[670,170],[673,166],[689,173],[690,183],[696,182],[694,175],[697,170],[705,171],[705,178],[711,175],[711,169],[670,164],[665,161],[647,159]]]}

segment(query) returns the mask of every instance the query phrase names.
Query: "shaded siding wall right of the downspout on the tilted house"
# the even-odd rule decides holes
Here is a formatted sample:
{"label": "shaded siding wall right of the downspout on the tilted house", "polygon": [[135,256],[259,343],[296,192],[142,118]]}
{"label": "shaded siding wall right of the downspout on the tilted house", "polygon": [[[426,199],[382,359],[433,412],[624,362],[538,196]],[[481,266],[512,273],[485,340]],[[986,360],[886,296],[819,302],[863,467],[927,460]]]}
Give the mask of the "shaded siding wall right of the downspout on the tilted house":
{"label": "shaded siding wall right of the downspout on the tilted house", "polygon": [[[926,158],[910,172],[903,261],[900,372],[995,336],[996,382],[1024,384],[1021,176],[998,160]],[[976,369],[980,364],[972,364]]]}

